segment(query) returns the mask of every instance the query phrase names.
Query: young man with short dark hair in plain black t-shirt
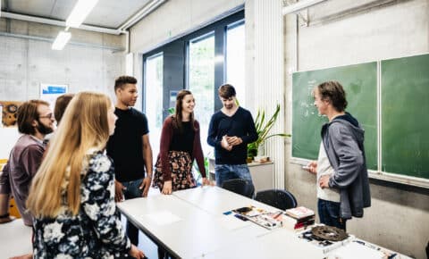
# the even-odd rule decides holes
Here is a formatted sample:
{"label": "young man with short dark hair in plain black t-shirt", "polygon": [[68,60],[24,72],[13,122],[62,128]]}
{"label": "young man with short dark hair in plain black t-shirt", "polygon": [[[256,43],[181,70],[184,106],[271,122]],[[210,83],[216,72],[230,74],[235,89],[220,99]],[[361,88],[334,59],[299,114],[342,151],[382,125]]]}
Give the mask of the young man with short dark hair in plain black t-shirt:
{"label": "young man with short dark hair in plain black t-shirt", "polygon": [[[122,76],[114,82],[118,116],[114,135],[107,142],[107,155],[114,160],[114,200],[147,196],[152,179],[152,148],[146,115],[132,106],[136,104],[137,79]],[[145,177],[146,167],[146,177]],[[127,235],[135,246],[139,245],[139,229],[127,221]]]}

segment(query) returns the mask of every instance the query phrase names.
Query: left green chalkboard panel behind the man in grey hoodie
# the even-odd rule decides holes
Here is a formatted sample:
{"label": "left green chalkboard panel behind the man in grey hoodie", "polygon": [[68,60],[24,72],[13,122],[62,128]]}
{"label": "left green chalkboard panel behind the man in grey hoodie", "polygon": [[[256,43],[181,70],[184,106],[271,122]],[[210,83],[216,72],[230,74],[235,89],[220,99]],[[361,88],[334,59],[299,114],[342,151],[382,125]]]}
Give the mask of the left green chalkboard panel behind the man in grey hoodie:
{"label": "left green chalkboard panel behind the man in grey hoodie", "polygon": [[366,164],[377,169],[377,63],[361,63],[292,76],[292,156],[316,159],[325,117],[313,105],[312,89],[327,80],[337,80],[346,90],[346,109],[365,129]]}

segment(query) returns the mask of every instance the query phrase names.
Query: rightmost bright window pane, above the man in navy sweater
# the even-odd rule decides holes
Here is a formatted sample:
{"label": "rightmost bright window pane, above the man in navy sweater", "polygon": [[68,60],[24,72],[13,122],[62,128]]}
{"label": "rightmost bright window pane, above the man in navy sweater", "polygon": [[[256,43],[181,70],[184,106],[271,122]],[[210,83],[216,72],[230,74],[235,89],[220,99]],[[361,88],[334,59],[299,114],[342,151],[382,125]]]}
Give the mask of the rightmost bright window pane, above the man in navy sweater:
{"label": "rightmost bright window pane, above the man in navy sweater", "polygon": [[241,106],[245,104],[244,86],[244,21],[231,24],[226,31],[226,81],[236,92]]}

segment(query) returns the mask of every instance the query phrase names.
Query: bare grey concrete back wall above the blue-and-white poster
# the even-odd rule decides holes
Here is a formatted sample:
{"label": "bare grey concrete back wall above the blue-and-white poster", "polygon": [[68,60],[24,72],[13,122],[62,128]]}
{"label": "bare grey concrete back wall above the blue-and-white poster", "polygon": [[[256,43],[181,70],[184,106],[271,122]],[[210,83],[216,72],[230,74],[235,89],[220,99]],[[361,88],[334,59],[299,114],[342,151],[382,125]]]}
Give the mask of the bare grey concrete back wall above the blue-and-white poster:
{"label": "bare grey concrete back wall above the blue-and-white poster", "polygon": [[71,29],[71,42],[55,51],[49,40],[60,29],[0,19],[0,100],[38,98],[40,83],[114,96],[114,78],[125,71],[124,37]]}

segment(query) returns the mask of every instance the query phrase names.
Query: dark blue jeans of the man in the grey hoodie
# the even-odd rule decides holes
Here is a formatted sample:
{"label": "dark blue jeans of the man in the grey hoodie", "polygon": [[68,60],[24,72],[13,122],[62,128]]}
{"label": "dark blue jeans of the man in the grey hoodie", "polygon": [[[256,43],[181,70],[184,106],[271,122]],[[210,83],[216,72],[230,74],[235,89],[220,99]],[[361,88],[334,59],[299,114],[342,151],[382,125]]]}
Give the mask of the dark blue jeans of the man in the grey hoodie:
{"label": "dark blue jeans of the man in the grey hoodie", "polygon": [[321,223],[344,231],[346,230],[347,220],[340,218],[340,203],[318,199],[317,210]]}

